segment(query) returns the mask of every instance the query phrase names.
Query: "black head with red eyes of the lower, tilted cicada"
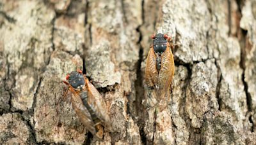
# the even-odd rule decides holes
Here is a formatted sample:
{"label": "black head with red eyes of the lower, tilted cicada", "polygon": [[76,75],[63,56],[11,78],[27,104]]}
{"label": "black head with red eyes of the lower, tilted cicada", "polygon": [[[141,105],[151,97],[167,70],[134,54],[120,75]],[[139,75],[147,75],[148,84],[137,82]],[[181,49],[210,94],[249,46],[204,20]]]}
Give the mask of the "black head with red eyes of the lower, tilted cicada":
{"label": "black head with red eyes of the lower, tilted cicada", "polygon": [[72,71],[70,74],[67,74],[66,79],[74,90],[83,89],[85,82],[82,71]]}

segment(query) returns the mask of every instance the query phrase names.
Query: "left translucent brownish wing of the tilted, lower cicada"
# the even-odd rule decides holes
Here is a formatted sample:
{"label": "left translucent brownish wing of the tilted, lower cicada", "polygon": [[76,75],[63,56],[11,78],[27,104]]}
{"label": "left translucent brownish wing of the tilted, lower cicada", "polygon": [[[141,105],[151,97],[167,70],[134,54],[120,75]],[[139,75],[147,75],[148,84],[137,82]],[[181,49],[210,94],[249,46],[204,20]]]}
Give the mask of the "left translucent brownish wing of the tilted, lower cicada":
{"label": "left translucent brownish wing of the tilted, lower cicada", "polygon": [[94,123],[92,117],[86,107],[83,105],[83,101],[78,93],[74,92],[72,97],[72,106],[76,111],[79,120],[83,123],[87,130],[89,130],[93,135],[96,134]]}

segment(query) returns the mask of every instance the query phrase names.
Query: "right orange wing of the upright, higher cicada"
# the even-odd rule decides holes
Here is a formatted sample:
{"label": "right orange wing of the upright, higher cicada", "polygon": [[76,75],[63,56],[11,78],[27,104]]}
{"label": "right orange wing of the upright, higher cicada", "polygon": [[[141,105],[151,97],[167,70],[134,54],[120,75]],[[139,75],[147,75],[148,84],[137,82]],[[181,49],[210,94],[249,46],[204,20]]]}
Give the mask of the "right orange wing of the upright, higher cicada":
{"label": "right orange wing of the upright, higher cicada", "polygon": [[159,71],[159,97],[162,99],[166,99],[166,93],[170,93],[170,85],[172,83],[172,78],[174,74],[174,60],[172,51],[170,50],[170,46],[166,48],[166,51],[162,55],[161,69]]}

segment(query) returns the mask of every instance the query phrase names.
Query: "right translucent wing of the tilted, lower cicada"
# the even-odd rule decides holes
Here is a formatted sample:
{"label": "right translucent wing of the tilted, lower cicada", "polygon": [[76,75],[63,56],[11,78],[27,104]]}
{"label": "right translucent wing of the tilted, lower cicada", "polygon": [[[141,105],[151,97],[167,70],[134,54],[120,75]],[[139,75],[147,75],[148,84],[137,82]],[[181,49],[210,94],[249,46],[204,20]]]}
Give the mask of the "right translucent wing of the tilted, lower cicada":
{"label": "right translucent wing of the tilted, lower cicada", "polygon": [[88,104],[92,107],[96,116],[102,121],[104,125],[109,127],[110,119],[106,103],[102,98],[102,95],[98,92],[95,86],[86,79],[86,87],[88,90]]}

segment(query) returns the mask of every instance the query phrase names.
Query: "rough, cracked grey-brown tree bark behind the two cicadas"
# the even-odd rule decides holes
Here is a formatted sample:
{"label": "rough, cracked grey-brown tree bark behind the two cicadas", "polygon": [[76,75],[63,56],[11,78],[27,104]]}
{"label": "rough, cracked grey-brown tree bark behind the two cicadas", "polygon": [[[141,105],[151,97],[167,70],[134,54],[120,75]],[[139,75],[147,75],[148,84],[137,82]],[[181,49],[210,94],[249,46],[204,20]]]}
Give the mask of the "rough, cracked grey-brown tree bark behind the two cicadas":
{"label": "rough, cracked grey-brown tree bark behind the two cicadas", "polygon": [[[169,106],[145,109],[154,32],[173,37]],[[1,0],[0,144],[256,144],[255,0]],[[113,132],[77,119],[67,72],[106,100]]]}

